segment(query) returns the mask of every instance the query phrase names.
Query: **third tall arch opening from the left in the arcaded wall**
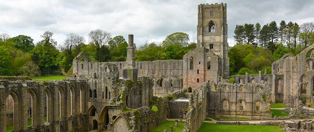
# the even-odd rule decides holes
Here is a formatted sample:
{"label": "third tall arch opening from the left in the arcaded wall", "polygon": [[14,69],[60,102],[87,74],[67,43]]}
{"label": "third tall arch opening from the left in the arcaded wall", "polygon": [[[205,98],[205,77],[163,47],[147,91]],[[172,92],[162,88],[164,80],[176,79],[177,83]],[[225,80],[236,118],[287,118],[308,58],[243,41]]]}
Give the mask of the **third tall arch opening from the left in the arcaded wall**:
{"label": "third tall arch opening from the left in the arcaded wall", "polygon": [[53,108],[52,108],[52,92],[46,88],[46,114],[47,114],[47,122],[52,122],[53,118]]}

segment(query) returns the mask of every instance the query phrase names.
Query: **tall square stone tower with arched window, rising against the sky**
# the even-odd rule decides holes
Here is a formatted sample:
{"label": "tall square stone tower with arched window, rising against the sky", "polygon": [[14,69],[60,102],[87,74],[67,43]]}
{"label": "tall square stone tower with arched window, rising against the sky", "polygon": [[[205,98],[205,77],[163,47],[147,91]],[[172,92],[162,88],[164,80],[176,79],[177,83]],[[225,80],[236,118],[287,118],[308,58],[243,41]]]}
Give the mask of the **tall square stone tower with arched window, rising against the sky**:
{"label": "tall square stone tower with arched window, rising against the sky", "polygon": [[229,76],[227,4],[198,5],[197,46],[218,55],[223,77]]}

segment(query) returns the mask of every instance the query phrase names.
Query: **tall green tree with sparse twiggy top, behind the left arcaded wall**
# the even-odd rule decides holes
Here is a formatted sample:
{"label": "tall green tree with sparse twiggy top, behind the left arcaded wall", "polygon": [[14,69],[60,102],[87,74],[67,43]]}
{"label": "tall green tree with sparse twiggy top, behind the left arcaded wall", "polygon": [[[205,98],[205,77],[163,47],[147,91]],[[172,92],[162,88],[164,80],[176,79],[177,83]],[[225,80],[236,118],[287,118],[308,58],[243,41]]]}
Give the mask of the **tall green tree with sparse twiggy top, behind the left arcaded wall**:
{"label": "tall green tree with sparse twiggy top, behind the left arcaded wall", "polygon": [[59,51],[55,48],[56,42],[52,39],[52,32],[46,31],[33,49],[32,60],[39,66],[42,75],[52,75],[57,70]]}

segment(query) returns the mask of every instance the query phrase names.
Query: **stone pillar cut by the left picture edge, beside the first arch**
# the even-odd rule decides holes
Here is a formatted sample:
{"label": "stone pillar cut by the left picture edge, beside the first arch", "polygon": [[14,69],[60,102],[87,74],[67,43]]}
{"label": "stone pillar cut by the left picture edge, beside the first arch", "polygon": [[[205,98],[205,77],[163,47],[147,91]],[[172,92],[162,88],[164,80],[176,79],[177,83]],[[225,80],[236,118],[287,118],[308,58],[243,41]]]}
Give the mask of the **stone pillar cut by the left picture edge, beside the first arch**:
{"label": "stone pillar cut by the left picture edge, beside the first arch", "polygon": [[5,87],[0,85],[0,132],[6,132]]}

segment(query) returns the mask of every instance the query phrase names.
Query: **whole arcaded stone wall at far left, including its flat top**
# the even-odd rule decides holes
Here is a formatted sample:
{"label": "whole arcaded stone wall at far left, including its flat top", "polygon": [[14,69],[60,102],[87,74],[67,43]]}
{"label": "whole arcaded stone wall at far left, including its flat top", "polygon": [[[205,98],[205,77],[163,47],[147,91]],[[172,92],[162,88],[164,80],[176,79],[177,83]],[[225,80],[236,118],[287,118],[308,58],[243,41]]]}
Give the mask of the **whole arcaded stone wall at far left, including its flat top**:
{"label": "whole arcaded stone wall at far left, including its flat top", "polygon": [[[84,126],[88,85],[85,79],[66,79],[49,82],[30,80],[0,80],[0,104],[5,104],[8,95],[14,101],[14,131],[79,130]],[[32,100],[29,100],[28,94]],[[32,102],[32,103],[29,103]],[[47,102],[45,105],[44,102]],[[28,107],[32,106],[32,126],[27,127]],[[47,114],[45,114],[47,107]],[[47,122],[44,116],[47,115]],[[0,132],[6,131],[6,107],[0,106]]]}

